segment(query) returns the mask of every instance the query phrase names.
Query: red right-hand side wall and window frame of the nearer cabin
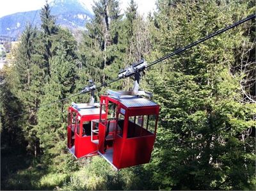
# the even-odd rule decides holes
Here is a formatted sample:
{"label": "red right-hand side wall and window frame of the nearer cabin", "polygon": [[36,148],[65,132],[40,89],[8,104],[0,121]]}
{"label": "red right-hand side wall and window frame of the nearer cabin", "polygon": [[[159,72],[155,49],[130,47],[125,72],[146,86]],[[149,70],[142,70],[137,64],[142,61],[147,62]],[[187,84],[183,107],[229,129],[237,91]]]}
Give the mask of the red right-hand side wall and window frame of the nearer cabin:
{"label": "red right-hand side wall and window frame of the nearer cabin", "polygon": [[[142,116],[152,114],[156,115],[158,118],[159,106],[143,107],[142,109],[126,109],[124,122],[124,137],[116,135],[116,139],[114,142],[113,164],[118,169],[131,167],[134,165],[146,164],[150,161],[151,153],[154,147],[154,141],[156,139],[156,132],[155,134],[150,135],[150,132],[148,132],[144,128],[136,125],[129,125],[129,116]],[[134,130],[135,133],[137,128],[140,128],[141,136],[127,138],[127,136],[129,136],[129,132],[132,132],[132,130]]]}

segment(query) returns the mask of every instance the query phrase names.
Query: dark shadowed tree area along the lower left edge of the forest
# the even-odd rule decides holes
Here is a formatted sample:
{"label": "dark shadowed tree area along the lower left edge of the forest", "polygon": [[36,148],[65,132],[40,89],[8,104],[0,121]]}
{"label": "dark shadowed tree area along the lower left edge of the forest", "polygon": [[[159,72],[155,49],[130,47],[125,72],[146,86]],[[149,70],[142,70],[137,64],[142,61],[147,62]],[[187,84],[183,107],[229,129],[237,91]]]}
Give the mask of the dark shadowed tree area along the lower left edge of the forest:
{"label": "dark shadowed tree area along the lower left edge of the forest", "polygon": [[40,158],[33,157],[26,149],[28,142],[18,125],[20,117],[17,114],[22,112],[18,98],[8,89],[4,98],[1,113],[1,190],[40,190],[38,180],[47,171],[46,165],[40,164]]}

